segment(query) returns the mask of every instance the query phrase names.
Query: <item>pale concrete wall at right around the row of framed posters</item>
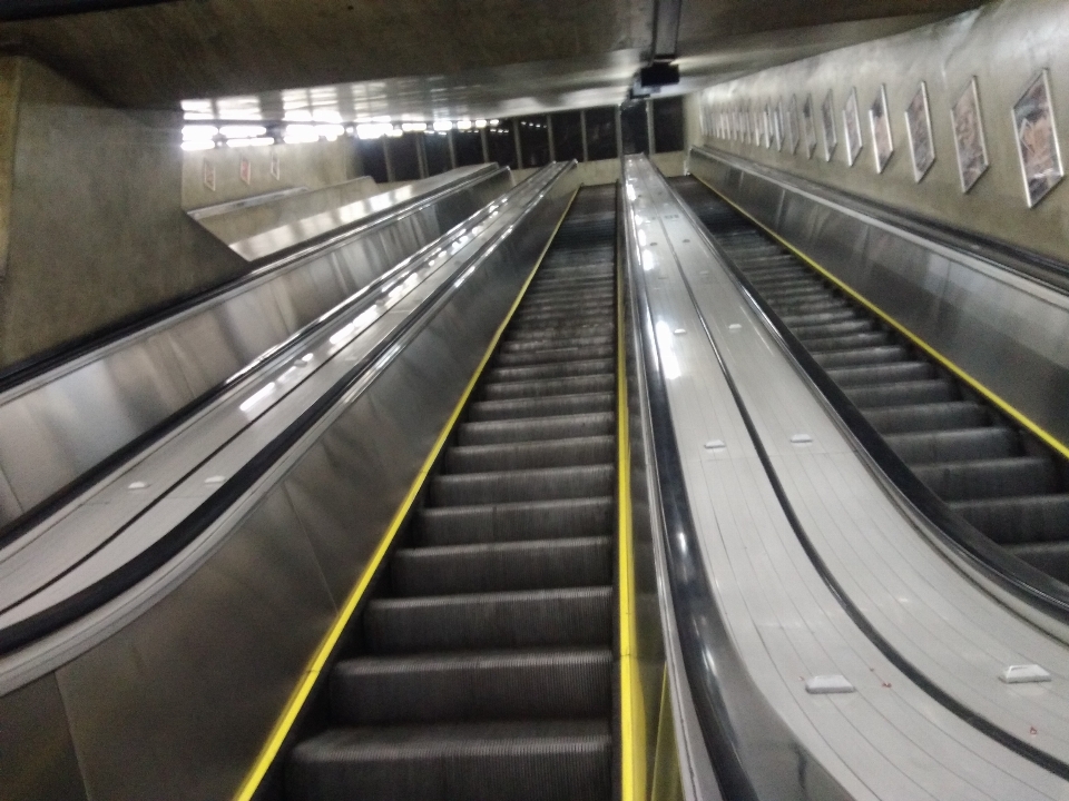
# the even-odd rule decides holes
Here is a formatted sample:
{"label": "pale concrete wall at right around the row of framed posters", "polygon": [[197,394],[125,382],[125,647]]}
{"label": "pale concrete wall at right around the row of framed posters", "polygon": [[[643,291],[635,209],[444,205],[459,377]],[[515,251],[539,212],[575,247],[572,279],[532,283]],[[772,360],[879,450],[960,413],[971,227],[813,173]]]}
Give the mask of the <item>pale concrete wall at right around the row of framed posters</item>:
{"label": "pale concrete wall at right around the row of framed posters", "polygon": [[[1012,108],[1026,88],[1049,70],[1055,121],[1060,140],[1069,136],[1069,3],[1062,0],[1007,0],[944,22],[757,72],[703,92],[703,130],[708,145],[814,181],[862,195],[1069,261],[1069,180],[1056,186],[1034,208],[1026,201]],[[962,191],[951,125],[951,106],[975,77],[990,167]],[[928,87],[935,161],[914,178],[904,112],[924,81]],[[881,85],[886,87],[894,152],[877,174],[869,121]],[[843,106],[856,89],[863,149],[853,167],[846,160]],[[824,160],[820,107],[834,95],[838,145]],[[764,109],[791,97],[798,108],[813,98],[817,145],[812,158],[775,145],[714,136],[717,112]],[[1065,150],[1065,148],[1063,148]]]}

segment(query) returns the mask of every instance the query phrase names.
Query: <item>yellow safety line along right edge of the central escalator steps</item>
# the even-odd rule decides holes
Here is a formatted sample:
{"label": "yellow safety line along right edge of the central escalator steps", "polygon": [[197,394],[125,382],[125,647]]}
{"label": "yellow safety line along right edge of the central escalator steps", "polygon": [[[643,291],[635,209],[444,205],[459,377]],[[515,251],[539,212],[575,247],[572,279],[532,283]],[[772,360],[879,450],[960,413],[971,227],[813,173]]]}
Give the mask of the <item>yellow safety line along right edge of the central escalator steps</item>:
{"label": "yellow safety line along right edge of the central escalator steps", "polygon": [[646,712],[638,675],[635,621],[635,563],[631,547],[631,445],[627,428],[624,354],[624,276],[617,257],[616,290],[617,481],[620,578],[620,789],[622,801],[646,798]]}

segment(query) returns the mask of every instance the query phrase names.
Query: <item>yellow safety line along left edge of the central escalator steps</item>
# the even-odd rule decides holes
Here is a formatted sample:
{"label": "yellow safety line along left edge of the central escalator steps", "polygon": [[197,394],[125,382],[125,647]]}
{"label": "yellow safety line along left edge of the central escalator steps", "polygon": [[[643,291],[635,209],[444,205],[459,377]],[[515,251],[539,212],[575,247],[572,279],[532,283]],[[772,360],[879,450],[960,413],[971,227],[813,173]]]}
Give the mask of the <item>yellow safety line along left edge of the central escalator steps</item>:
{"label": "yellow safety line along left edge of the central escalator steps", "polygon": [[490,360],[490,356],[493,354],[494,348],[497,348],[498,340],[501,338],[501,334],[509,325],[509,322],[512,319],[512,315],[516,314],[517,307],[520,305],[520,301],[527,294],[527,288],[534,278],[534,274],[538,271],[538,268],[541,267],[542,259],[546,258],[546,253],[549,250],[550,245],[552,245],[553,239],[557,237],[557,231],[560,230],[560,226],[565,221],[565,217],[568,216],[568,211],[571,209],[571,205],[575,202],[576,195],[578,194],[578,188],[571,194],[571,198],[569,198],[563,214],[561,214],[560,219],[557,220],[552,236],[550,236],[549,240],[546,243],[546,247],[543,247],[542,251],[539,254],[538,260],[534,263],[534,267],[527,276],[527,280],[523,281],[523,286],[520,288],[520,293],[512,303],[512,307],[509,309],[509,313],[501,322],[501,325],[498,326],[498,330],[490,340],[490,345],[487,347],[487,352],[483,354],[482,360],[479,362],[479,366],[471,376],[471,380],[468,382],[468,386],[464,388],[463,395],[460,396],[460,400],[457,402],[453,413],[449,416],[449,419],[445,422],[441,433],[439,433],[438,439],[434,442],[434,446],[431,448],[426,461],[423,462],[423,466],[420,468],[415,479],[412,482],[412,486],[409,487],[409,492],[404,496],[404,501],[401,502],[401,506],[398,508],[396,514],[394,514],[393,520],[390,523],[390,527],[386,530],[385,535],[379,543],[379,547],[375,548],[374,555],[371,557],[367,566],[364,567],[363,573],[361,573],[360,581],[356,582],[356,586],[353,587],[352,592],[349,594],[349,597],[345,600],[345,603],[339,612],[337,617],[334,619],[334,624],[330,627],[330,630],[326,632],[326,635],[320,642],[320,646],[315,650],[312,661],[308,662],[308,665],[304,669],[304,674],[301,679],[301,682],[297,684],[296,689],[293,691],[293,694],[290,696],[290,700],[286,702],[286,705],[282,712],[282,716],[275,723],[271,735],[267,738],[267,742],[264,744],[259,755],[256,758],[253,769],[248,772],[248,775],[245,777],[245,781],[242,782],[237,794],[234,795],[234,801],[249,801],[249,799],[253,798],[253,795],[259,789],[259,783],[263,781],[264,775],[266,775],[267,769],[271,768],[275,756],[278,755],[278,751],[282,748],[283,742],[285,742],[286,736],[290,734],[290,730],[293,728],[293,723],[297,719],[302,706],[304,706],[304,702],[312,692],[312,688],[315,686],[315,682],[320,676],[320,672],[323,670],[323,665],[326,664],[326,660],[330,657],[331,652],[337,644],[342,632],[345,630],[345,626],[352,619],[353,613],[356,611],[364,592],[367,590],[367,585],[375,575],[375,571],[379,570],[379,565],[390,551],[390,546],[393,544],[393,540],[396,536],[398,531],[400,531],[401,525],[404,523],[404,520],[409,514],[409,510],[412,508],[412,504],[415,502],[416,496],[423,488],[423,483],[426,481],[428,474],[434,466],[434,462],[438,459],[438,455],[441,452],[442,446],[444,446],[445,439],[449,437],[450,432],[457,424],[457,419],[460,417],[460,413],[468,403],[468,398],[470,397],[472,389],[474,389],[475,384],[482,376],[482,370]]}

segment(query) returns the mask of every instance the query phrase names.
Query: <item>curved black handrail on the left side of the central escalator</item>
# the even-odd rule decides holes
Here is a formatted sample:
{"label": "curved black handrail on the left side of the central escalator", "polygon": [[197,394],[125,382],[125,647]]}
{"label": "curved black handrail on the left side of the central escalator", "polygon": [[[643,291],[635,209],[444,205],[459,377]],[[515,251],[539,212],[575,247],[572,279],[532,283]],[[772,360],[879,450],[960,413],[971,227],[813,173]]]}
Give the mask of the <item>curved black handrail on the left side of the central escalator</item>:
{"label": "curved black handrail on the left side of the central escalator", "polygon": [[[507,238],[507,233],[514,230],[517,226],[534,211],[539,201],[553,186],[557,178],[573,164],[573,161],[563,165],[558,162],[531,176],[531,178],[533,178],[538,175],[547,175],[546,170],[550,171],[548,172],[550,177],[547,178],[543,187],[531,197],[517,219],[504,233],[480,246],[479,250],[471,255],[467,266],[462,268],[462,271],[470,274],[478,269],[486,258]],[[459,291],[464,281],[461,280],[450,280],[435,287],[382,342],[377,343],[371,350],[355,362],[341,378],[313,402],[296,419],[290,423],[281,434],[253,455],[234,475],[219,485],[215,493],[163,537],[89,586],[65,597],[46,610],[0,630],[0,655],[11,653],[84,617],[127,590],[130,590],[139,582],[148,578],[167,562],[177,556],[185,547],[207,532],[209,526],[223,514],[238,503],[245,493],[253,490],[263,476],[357,384],[363,382],[366,385],[374,380],[374,378],[396,358],[404,346],[411,342],[423,327],[429,325],[430,319],[434,316],[435,309],[441,308],[448,303],[450,297]],[[107,542],[112,541],[121,534],[122,531],[133,525],[143,514],[145,514],[145,511],[118,531],[114,532],[96,551],[99,551]]]}

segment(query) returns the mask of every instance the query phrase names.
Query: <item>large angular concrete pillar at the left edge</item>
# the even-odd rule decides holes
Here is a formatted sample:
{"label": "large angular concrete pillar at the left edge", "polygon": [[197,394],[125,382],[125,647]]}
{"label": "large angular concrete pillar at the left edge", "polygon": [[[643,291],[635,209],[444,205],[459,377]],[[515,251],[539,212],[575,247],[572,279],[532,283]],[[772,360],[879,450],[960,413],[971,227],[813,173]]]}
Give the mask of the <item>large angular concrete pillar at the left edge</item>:
{"label": "large angular concrete pillar at the left edge", "polygon": [[182,209],[180,126],[0,59],[0,366],[245,269]]}

